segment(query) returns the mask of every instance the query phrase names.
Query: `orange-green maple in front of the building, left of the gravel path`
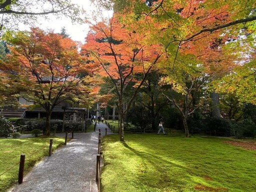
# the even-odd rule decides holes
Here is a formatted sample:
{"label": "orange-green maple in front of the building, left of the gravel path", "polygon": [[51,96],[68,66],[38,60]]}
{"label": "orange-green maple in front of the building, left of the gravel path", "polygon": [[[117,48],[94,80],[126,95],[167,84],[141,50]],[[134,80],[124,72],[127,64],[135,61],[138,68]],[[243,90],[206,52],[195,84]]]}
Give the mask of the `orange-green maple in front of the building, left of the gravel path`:
{"label": "orange-green maple in front of the building, left of the gravel path", "polygon": [[[63,101],[84,101],[88,93],[86,77],[90,74],[77,43],[39,28],[15,32],[7,59],[0,64],[8,87],[24,93],[18,96],[46,112],[46,134],[50,133],[53,108]],[[7,86],[8,85],[8,86]]]}

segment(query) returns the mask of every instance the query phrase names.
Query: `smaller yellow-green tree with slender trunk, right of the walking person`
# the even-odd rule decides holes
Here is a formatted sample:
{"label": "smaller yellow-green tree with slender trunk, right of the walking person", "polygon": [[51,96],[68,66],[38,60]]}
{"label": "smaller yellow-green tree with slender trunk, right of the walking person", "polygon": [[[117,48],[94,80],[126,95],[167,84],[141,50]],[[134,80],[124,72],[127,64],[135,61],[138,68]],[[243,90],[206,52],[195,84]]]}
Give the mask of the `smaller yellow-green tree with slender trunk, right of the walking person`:
{"label": "smaller yellow-green tree with slender trunk, right of the walking person", "polygon": [[[172,68],[165,72],[166,76],[161,81],[169,89],[168,92],[162,94],[179,110],[185,136],[188,137],[187,119],[200,107],[198,98],[208,80],[208,75],[204,72],[203,66],[198,64],[198,60],[191,56],[190,59],[184,57],[183,59],[186,61],[178,62],[175,69]],[[175,95],[177,93],[178,95]]]}

